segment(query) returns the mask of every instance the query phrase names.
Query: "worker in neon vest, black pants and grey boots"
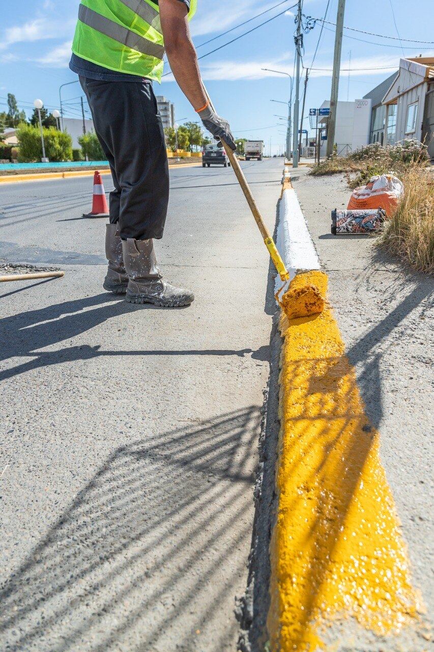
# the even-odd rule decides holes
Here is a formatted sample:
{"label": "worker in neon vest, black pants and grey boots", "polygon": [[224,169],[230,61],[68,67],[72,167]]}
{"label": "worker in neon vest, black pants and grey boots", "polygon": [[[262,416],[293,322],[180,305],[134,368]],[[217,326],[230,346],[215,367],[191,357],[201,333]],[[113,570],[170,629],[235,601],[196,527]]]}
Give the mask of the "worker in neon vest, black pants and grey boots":
{"label": "worker in neon vest, black pants and grey boots", "polygon": [[162,277],[154,252],[169,201],[164,131],[152,82],[166,52],[175,80],[203,125],[236,149],[211,108],[188,23],[197,0],[81,0],[70,68],[80,77],[115,189],[106,228],[104,289],[130,303],[186,306],[194,294]]}

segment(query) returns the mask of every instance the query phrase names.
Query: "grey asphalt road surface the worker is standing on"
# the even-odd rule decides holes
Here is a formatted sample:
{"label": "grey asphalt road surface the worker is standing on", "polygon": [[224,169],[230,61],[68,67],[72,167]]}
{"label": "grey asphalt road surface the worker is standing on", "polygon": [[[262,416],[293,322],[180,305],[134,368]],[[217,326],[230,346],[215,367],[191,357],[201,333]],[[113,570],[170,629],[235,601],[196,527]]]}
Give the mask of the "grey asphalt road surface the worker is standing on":
{"label": "grey asphalt road surface the worker is standing on", "polygon": [[[282,159],[243,168],[272,230]],[[233,652],[267,252],[230,168],[172,170],[156,248],[195,302],[127,304],[102,290],[105,220],[81,218],[91,190],[90,177],[0,187],[0,259],[65,269],[1,286],[0,649]]]}

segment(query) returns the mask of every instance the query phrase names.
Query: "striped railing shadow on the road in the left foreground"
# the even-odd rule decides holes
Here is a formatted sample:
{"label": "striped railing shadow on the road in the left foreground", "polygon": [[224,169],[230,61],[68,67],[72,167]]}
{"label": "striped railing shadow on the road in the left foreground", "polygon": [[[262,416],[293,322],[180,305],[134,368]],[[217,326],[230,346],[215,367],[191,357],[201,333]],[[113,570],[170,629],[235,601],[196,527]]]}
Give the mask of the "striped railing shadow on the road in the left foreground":
{"label": "striped railing shadow on the road in the left foreground", "polygon": [[252,406],[113,451],[3,587],[1,649],[227,649],[260,417]]}

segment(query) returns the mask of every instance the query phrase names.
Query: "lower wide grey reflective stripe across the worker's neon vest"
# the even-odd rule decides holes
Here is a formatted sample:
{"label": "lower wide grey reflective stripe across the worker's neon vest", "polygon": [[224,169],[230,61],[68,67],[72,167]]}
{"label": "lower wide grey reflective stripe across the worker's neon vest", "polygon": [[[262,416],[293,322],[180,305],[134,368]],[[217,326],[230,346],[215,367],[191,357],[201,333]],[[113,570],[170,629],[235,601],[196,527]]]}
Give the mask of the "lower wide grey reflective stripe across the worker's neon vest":
{"label": "lower wide grey reflective stripe across the worker's neon vest", "polygon": [[[137,3],[132,0],[127,0],[126,2],[123,2],[123,4],[129,7],[130,4],[134,5]],[[146,5],[143,0],[141,1],[141,5],[152,10],[152,7]],[[101,16],[101,14],[98,14],[93,9],[85,7],[85,5],[80,5],[78,8],[78,20],[81,20],[81,22],[88,27],[96,29],[96,31],[106,35],[106,37],[113,38],[113,40],[118,41],[122,45],[126,45],[132,50],[137,50],[137,52],[147,54],[150,57],[156,57],[156,59],[162,59],[164,56],[164,46],[158,45],[158,43],[153,43],[152,41],[147,40],[147,38],[139,36],[130,29],[126,29],[126,27],[119,25],[119,23],[115,23],[113,20]]]}

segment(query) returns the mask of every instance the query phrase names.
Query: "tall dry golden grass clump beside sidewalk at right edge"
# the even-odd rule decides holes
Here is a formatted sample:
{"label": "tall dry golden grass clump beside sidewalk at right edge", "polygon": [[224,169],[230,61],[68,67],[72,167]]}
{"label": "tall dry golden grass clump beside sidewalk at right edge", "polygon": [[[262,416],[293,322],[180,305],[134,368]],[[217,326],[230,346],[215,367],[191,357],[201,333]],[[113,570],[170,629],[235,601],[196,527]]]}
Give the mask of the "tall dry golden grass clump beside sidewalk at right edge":
{"label": "tall dry golden grass clump beside sidewalk at right edge", "polygon": [[404,196],[378,244],[412,269],[434,273],[434,179],[432,171],[412,168],[401,177]]}

